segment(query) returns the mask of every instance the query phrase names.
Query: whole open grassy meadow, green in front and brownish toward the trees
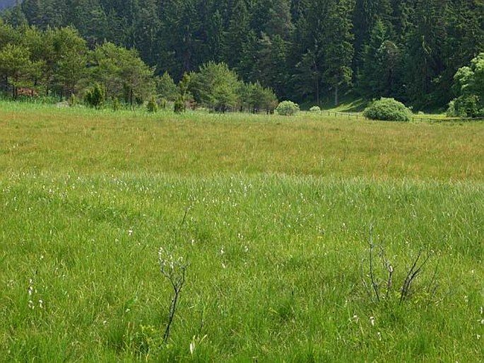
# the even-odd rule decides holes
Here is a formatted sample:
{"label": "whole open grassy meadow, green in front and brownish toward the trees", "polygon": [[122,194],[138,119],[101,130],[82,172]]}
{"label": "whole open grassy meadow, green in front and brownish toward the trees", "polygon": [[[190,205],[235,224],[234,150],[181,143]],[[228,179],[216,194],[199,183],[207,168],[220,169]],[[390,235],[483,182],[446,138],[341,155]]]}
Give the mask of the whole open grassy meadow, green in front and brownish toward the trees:
{"label": "whole open grassy meadow, green in front and brownish toward the trees", "polygon": [[[483,141],[1,103],[0,361],[482,362]],[[188,263],[166,341],[160,247]]]}

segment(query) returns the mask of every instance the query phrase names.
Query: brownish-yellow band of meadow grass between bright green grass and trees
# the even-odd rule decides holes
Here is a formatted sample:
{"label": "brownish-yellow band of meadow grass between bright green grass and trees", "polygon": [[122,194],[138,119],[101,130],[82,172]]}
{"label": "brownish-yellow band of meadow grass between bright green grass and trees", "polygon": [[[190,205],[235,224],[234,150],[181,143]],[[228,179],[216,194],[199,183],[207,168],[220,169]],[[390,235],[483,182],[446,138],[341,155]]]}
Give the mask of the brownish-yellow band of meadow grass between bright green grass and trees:
{"label": "brownish-yellow band of meadow grass between bright green grass and trees", "polygon": [[484,170],[482,122],[153,115],[11,103],[1,111],[0,127],[5,171],[482,180]]}

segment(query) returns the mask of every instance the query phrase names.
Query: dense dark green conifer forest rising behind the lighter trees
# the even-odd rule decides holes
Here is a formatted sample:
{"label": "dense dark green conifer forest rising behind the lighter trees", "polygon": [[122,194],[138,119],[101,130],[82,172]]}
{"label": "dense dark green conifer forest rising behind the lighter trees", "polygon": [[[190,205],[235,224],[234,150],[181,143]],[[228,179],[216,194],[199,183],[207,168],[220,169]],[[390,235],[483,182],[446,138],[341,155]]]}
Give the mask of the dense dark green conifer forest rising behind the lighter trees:
{"label": "dense dark green conifer forest rising behind the lighter trees", "polygon": [[350,92],[442,107],[456,71],[484,51],[483,0],[23,0],[2,18],[15,28],[69,25],[88,49],[137,50],[175,81],[224,62],[297,102],[338,103]]}

